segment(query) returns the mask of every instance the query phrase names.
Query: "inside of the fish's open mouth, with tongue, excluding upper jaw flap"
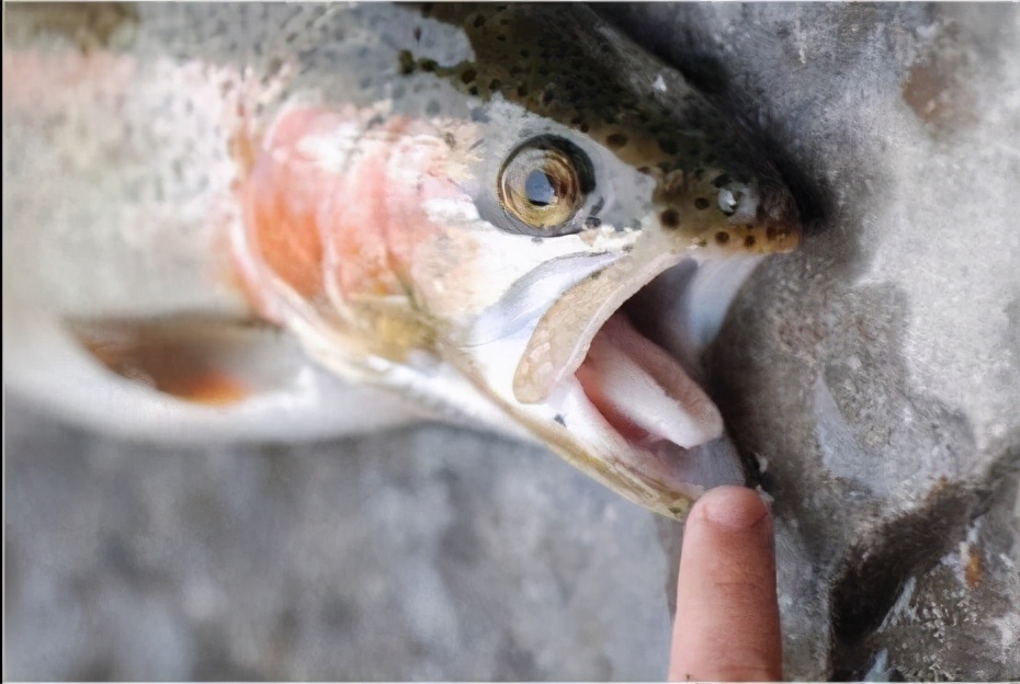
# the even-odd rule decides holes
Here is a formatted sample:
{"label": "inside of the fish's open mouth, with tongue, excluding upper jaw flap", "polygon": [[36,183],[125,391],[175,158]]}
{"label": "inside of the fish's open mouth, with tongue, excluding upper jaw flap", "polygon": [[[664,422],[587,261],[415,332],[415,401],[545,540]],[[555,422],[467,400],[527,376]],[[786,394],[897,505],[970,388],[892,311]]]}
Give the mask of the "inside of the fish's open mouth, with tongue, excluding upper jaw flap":
{"label": "inside of the fish's open mouth, with tongue, excluding upper jaw flap", "polygon": [[570,433],[573,449],[560,451],[589,452],[568,459],[673,516],[712,487],[745,481],[700,356],[759,261],[679,259],[577,341],[587,351],[544,400]]}

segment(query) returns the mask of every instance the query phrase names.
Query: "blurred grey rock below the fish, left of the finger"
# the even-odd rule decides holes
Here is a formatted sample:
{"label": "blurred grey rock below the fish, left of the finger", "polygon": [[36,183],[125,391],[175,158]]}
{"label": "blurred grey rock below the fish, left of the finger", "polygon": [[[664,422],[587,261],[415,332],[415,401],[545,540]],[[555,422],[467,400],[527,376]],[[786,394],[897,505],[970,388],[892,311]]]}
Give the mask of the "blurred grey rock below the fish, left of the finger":
{"label": "blurred grey rock below the fish, left of the finger", "polygon": [[653,514],[541,449],[157,448],[12,401],[5,446],[5,680],[666,675]]}

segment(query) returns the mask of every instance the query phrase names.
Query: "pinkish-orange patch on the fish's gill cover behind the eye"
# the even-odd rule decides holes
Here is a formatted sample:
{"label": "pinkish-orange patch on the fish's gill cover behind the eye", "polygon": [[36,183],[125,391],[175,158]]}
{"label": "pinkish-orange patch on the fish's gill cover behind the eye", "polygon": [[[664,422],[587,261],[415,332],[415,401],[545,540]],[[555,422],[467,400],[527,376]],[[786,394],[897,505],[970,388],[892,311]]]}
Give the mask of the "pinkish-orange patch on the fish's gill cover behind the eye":
{"label": "pinkish-orange patch on the fish's gill cover behind the eye", "polygon": [[443,174],[447,155],[428,122],[353,107],[286,111],[238,187],[240,261],[257,303],[263,278],[243,265],[251,256],[315,304],[330,293],[347,301],[406,294],[419,246],[440,230],[423,203],[460,192]]}

